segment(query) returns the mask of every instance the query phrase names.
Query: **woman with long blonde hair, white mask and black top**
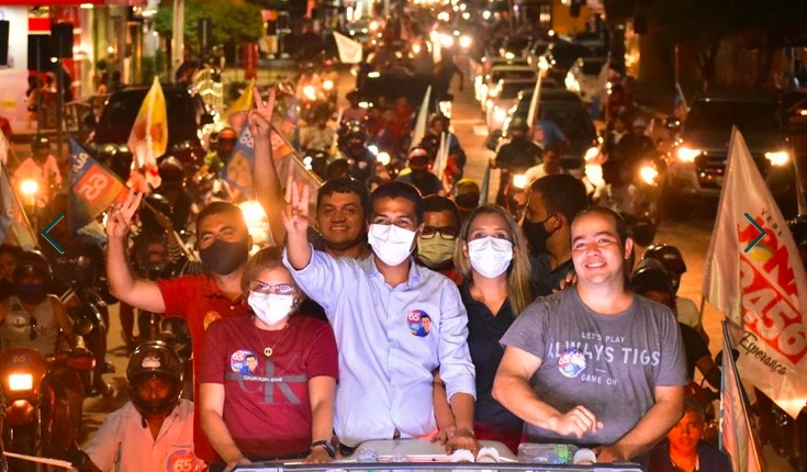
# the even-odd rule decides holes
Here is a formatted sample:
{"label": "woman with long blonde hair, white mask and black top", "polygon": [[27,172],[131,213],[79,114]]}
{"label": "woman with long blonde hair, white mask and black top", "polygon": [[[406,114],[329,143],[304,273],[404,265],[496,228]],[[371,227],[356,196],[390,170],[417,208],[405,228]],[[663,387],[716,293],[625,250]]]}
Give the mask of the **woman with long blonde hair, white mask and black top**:
{"label": "woman with long blonde hair, white mask and black top", "polygon": [[523,422],[493,398],[493,378],[504,349],[500,339],[529,304],[529,260],[520,228],[498,205],[475,209],[460,229],[455,265],[468,311],[468,347],[477,368],[474,430],[478,439],[518,448]]}

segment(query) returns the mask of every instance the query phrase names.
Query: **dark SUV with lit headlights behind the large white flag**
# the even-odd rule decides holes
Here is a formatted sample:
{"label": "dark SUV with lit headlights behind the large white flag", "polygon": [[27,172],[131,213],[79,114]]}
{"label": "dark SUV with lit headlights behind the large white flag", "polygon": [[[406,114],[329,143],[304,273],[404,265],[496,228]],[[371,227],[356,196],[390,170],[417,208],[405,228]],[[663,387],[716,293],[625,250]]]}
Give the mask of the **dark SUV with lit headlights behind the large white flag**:
{"label": "dark SUV with lit headlights behind the large white flag", "polygon": [[698,200],[720,196],[731,130],[737,126],[785,217],[797,210],[795,153],[788,115],[773,93],[713,91],[692,104],[681,137],[666,156],[664,202],[673,217]]}

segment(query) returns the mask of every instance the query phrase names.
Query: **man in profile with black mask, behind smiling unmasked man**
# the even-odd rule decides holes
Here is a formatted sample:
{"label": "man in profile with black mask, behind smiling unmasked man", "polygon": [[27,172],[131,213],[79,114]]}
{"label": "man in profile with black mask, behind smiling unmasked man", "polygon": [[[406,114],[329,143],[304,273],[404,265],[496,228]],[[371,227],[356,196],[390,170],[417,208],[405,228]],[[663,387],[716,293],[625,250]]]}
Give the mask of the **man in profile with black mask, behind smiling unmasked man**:
{"label": "man in profile with black mask, behind smiling unmasked man", "polygon": [[529,187],[522,228],[529,244],[533,295],[551,295],[574,271],[571,225],[587,204],[583,182],[572,176],[542,177]]}

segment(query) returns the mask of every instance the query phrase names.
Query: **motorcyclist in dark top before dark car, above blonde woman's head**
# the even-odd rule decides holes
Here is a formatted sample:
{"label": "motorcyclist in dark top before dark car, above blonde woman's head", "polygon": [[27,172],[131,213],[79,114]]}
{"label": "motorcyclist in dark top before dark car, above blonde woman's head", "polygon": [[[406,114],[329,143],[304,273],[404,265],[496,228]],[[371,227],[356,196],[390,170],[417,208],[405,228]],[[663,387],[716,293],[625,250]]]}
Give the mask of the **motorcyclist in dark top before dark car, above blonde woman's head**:
{"label": "motorcyclist in dark top before dark car, above blonde woman's head", "polygon": [[505,203],[504,190],[509,183],[511,176],[523,173],[530,167],[540,164],[542,155],[541,148],[527,136],[529,125],[526,120],[520,116],[514,117],[508,132],[511,141],[498,148],[492,162],[493,168],[502,169],[496,194],[498,204]]}

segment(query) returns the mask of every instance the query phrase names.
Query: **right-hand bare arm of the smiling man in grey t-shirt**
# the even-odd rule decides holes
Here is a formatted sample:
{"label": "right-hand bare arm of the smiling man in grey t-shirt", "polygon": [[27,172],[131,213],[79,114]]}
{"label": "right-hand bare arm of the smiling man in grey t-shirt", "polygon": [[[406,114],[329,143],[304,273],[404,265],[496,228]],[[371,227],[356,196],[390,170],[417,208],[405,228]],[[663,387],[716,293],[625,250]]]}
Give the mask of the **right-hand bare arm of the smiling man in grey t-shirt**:
{"label": "right-hand bare arm of the smiling man in grey t-shirt", "polygon": [[657,386],[655,404],[618,441],[595,449],[597,462],[628,461],[648,452],[681,419],[684,412],[683,386]]}

